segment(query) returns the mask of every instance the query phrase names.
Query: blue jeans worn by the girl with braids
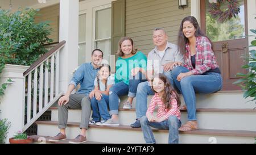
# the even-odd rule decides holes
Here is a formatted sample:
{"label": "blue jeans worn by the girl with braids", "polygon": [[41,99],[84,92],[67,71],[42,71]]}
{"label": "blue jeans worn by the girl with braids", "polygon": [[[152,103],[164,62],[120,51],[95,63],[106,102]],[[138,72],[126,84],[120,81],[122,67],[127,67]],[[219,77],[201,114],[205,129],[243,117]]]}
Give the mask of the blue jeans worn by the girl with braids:
{"label": "blue jeans worn by the girl with braids", "polygon": [[100,122],[103,120],[110,119],[109,115],[109,96],[102,94],[101,100],[97,100],[95,97],[90,99],[90,105],[92,106],[92,120]]}

